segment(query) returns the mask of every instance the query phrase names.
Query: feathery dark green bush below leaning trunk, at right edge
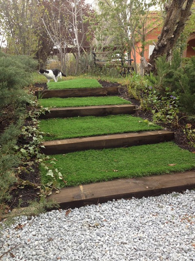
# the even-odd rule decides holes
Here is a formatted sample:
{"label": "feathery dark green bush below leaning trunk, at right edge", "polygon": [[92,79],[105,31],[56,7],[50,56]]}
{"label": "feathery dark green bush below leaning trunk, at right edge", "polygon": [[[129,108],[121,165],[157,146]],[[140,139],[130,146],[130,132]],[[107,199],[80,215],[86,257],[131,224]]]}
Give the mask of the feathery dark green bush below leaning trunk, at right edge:
{"label": "feathery dark green bush below leaning trunk, at right edge", "polygon": [[182,59],[178,51],[174,52],[172,62],[167,62],[165,56],[156,61],[157,74],[146,76],[151,85],[162,96],[175,92],[179,96],[179,109],[186,114],[195,114],[195,57]]}

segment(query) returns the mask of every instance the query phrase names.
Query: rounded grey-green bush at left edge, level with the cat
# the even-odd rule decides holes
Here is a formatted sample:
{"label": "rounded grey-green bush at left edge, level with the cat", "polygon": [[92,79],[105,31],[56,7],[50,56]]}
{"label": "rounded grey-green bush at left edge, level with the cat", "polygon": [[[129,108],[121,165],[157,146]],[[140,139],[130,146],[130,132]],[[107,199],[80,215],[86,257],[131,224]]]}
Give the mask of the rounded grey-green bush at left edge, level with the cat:
{"label": "rounded grey-green bush at left edge, level with the cat", "polygon": [[[6,56],[0,53],[0,118],[15,120],[29,102],[23,87],[32,83],[30,71],[36,63],[26,56]],[[6,108],[6,114],[4,115]]]}

